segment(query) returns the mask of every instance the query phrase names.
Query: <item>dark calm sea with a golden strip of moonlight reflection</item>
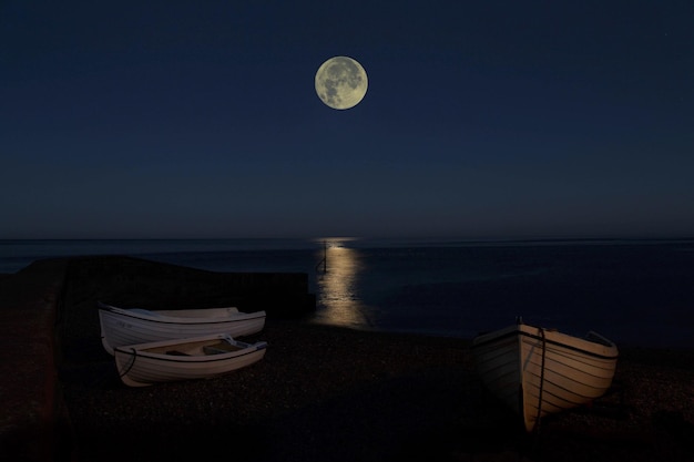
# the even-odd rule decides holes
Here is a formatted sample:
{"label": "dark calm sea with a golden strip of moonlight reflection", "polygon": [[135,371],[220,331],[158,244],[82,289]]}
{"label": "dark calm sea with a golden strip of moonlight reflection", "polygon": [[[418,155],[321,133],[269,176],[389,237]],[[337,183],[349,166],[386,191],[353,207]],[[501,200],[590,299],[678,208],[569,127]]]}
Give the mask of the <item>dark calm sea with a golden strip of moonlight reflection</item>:
{"label": "dark calm sea with a golden strip of moonlight reflection", "polygon": [[0,273],[124,255],[227,273],[306,273],[307,321],[472,338],[522,318],[619,345],[694,347],[692,239],[0,240]]}

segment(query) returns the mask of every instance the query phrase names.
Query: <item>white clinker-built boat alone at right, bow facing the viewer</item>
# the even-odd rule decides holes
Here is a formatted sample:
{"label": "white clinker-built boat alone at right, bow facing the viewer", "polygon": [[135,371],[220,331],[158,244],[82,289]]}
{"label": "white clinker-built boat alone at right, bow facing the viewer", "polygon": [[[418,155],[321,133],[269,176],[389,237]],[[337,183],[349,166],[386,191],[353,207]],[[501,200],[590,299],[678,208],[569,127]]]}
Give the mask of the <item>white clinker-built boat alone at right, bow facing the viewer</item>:
{"label": "white clinker-built boat alone at right, bow facing the viewer", "polygon": [[532,431],[542,417],[590,403],[612,384],[618,348],[596,332],[572,337],[524,324],[472,341],[487,388]]}

